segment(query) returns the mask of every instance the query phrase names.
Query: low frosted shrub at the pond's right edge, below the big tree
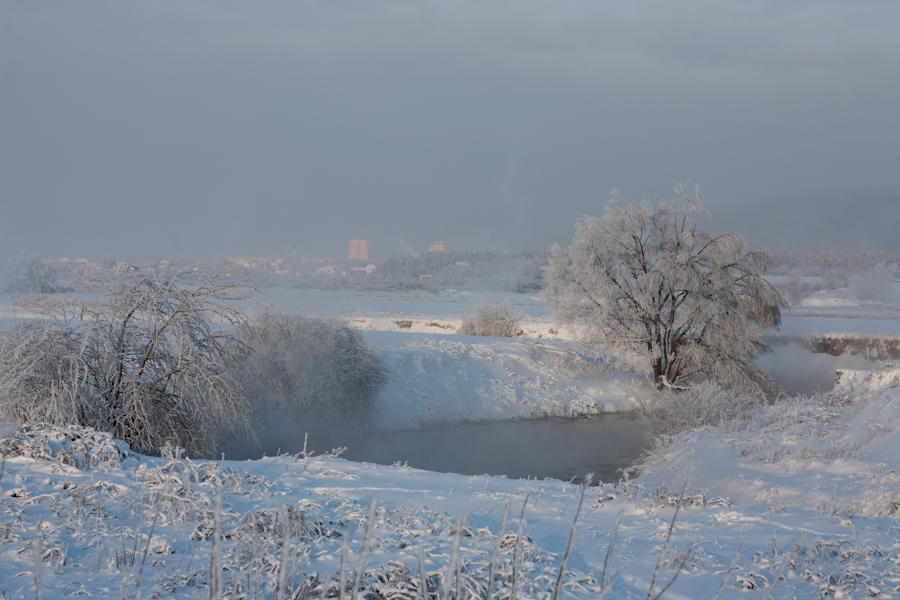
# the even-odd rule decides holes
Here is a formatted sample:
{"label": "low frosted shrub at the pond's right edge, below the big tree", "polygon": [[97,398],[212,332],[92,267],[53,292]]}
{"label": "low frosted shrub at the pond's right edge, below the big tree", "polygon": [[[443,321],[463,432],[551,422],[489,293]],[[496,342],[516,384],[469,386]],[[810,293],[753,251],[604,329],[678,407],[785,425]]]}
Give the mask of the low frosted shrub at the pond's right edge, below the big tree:
{"label": "low frosted shrub at the pond's right edge, below the big tree", "polygon": [[685,390],[658,391],[635,409],[634,414],[659,442],[705,425],[734,421],[756,404],[757,400],[705,381]]}

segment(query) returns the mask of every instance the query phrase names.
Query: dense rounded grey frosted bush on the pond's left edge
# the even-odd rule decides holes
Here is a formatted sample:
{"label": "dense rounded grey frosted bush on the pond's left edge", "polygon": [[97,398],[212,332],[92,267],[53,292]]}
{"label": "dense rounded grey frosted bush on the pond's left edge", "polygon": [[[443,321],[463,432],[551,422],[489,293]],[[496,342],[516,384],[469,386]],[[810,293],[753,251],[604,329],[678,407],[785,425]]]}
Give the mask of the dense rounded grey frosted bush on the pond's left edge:
{"label": "dense rounded grey frosted bush on the pond's left edge", "polygon": [[238,336],[244,346],[234,374],[258,418],[371,426],[388,374],[357,329],[264,311]]}

